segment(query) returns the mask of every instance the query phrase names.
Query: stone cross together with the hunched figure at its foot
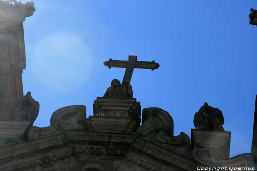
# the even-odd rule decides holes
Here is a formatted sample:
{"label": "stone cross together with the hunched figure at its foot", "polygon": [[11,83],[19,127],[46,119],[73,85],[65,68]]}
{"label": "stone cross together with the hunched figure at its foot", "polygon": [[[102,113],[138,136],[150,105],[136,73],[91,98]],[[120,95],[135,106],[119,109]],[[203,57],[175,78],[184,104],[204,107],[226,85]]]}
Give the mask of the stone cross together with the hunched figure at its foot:
{"label": "stone cross together with the hunched figure at its foot", "polygon": [[137,56],[128,56],[128,61],[109,59],[109,61],[105,61],[103,64],[109,68],[126,68],[122,84],[120,84],[119,80],[114,79],[111,87],[104,94],[104,97],[111,98],[132,98],[133,94],[130,81],[134,68],[154,70],[160,66],[155,61],[137,61]]}

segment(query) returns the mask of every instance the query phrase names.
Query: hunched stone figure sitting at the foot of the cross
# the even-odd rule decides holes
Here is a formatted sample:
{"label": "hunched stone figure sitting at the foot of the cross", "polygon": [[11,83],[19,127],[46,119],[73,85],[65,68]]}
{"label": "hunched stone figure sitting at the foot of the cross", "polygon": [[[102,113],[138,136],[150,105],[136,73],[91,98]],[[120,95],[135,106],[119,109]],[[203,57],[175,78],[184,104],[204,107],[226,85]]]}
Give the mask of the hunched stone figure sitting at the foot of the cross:
{"label": "hunched stone figure sitting at the foot of the cross", "polygon": [[118,79],[113,79],[104,96],[106,98],[132,98],[132,86],[129,83],[122,83]]}

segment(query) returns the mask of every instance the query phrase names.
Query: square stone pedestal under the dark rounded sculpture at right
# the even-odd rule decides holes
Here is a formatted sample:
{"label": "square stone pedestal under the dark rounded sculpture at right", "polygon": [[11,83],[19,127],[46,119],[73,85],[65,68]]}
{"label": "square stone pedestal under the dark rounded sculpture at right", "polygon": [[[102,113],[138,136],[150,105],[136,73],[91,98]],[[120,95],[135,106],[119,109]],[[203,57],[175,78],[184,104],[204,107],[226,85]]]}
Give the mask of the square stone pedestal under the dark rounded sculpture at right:
{"label": "square stone pedestal under the dark rounded sculpture at right", "polygon": [[231,132],[191,129],[191,150],[210,149],[213,157],[229,158]]}

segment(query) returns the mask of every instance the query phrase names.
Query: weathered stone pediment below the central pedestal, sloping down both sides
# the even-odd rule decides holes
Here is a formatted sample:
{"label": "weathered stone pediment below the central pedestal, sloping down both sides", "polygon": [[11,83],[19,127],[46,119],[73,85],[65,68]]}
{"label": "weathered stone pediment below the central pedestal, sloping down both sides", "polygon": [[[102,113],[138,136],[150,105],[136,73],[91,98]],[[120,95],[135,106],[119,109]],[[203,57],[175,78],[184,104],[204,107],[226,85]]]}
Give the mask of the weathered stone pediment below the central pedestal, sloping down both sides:
{"label": "weathered stone pediment below the central pedestal, sloping down both sides", "polygon": [[[192,162],[136,135],[66,131],[0,148],[1,170],[189,170]],[[134,145],[133,145],[134,144]],[[170,160],[170,161],[169,161]],[[183,166],[180,166],[184,163]],[[186,164],[187,163],[187,164]],[[160,169],[161,168],[161,169]]]}

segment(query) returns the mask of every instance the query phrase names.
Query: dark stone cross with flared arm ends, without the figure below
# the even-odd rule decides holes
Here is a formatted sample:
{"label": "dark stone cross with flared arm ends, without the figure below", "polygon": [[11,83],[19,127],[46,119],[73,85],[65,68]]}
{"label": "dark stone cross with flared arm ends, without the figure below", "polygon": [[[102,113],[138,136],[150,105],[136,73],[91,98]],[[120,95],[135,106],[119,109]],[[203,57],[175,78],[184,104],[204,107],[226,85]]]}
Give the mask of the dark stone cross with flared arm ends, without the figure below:
{"label": "dark stone cross with flared arm ends, without the figure below", "polygon": [[128,61],[112,60],[110,58],[109,61],[105,61],[103,64],[105,66],[108,66],[109,68],[112,68],[112,67],[126,68],[126,72],[125,72],[122,83],[130,83],[134,68],[154,70],[154,69],[159,68],[159,66],[160,66],[154,60],[152,62],[137,61],[137,56],[128,56]]}

